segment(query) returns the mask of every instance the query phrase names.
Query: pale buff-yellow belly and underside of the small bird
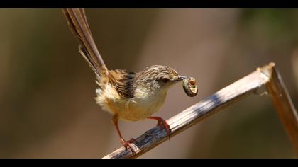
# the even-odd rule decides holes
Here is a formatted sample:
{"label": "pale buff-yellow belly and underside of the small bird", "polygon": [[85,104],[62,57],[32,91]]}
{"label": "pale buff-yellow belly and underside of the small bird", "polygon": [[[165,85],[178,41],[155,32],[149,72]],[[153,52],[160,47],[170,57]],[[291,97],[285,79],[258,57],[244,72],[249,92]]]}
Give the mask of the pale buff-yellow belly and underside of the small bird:
{"label": "pale buff-yellow belly and underside of the small bird", "polygon": [[102,93],[101,90],[96,91],[98,94],[96,101],[104,110],[111,114],[117,114],[123,120],[143,120],[158,112],[165,103],[166,92],[143,98],[123,99],[117,96],[118,94],[115,96],[112,91],[114,90],[105,91],[105,93]]}

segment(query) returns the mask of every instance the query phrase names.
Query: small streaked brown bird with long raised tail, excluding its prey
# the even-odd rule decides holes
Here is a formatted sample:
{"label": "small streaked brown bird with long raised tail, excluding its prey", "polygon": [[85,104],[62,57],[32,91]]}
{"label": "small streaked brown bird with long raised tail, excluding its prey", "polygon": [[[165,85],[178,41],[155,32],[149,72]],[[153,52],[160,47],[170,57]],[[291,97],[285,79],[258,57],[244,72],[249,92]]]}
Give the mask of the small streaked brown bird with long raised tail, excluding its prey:
{"label": "small streaked brown bird with long raised tail, excluding its prey", "polygon": [[129,147],[134,139],[123,139],[118,128],[119,118],[128,121],[145,118],[158,120],[158,125],[165,128],[170,139],[170,126],[161,117],[153,117],[165,102],[167,90],[175,83],[188,79],[167,66],[153,65],[134,73],[124,69],[108,70],[101,58],[92,37],[84,9],[63,9],[70,28],[78,38],[79,52],[86,59],[96,74],[96,103],[111,113],[113,122],[121,139],[121,144]]}

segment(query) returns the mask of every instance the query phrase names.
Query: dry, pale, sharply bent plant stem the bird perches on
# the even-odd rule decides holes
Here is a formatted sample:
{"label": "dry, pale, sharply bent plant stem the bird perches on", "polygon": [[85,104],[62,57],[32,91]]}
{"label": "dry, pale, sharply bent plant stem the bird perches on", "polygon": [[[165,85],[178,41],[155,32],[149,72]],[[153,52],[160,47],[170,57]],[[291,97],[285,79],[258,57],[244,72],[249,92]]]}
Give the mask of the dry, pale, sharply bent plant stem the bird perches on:
{"label": "dry, pale, sharply bent plant stem the bird perches on", "polygon": [[[298,154],[297,113],[289,98],[287,89],[274,67],[275,64],[270,63],[265,67],[258,68],[248,76],[243,77],[226,88],[204,98],[199,103],[192,105],[190,108],[187,108],[174,117],[171,117],[170,120],[167,120],[172,130],[171,137],[192,127],[197,122],[219,110],[223,110],[223,108],[236,103],[238,100],[255,93],[258,88],[266,86],[267,91],[272,95],[277,113],[282,123],[285,125]],[[130,149],[126,150],[124,147],[121,147],[113,153],[104,156],[104,159],[137,158],[165,141],[167,141],[165,129],[160,129],[160,127],[157,126],[136,139],[136,142],[133,143],[134,149],[136,150],[135,155],[131,154]]]}

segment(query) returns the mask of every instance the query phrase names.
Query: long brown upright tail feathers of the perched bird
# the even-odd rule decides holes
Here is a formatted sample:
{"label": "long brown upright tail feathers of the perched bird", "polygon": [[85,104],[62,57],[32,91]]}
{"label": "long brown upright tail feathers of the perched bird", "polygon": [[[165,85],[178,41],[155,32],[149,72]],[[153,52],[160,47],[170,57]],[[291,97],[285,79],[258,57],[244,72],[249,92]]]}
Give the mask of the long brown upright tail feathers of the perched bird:
{"label": "long brown upright tail feathers of the perched bird", "polygon": [[68,25],[80,42],[79,52],[86,59],[97,77],[107,76],[109,71],[94,42],[84,9],[64,8]]}

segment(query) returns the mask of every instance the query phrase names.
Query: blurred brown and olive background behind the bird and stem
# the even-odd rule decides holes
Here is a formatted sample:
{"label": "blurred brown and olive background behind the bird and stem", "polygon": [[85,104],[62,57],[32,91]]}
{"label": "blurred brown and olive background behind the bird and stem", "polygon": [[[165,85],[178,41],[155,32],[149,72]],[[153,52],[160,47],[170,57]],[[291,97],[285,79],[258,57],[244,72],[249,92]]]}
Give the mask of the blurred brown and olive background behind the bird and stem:
{"label": "blurred brown and olive background behind the bird and stem", "polygon": [[[298,106],[298,10],[87,9],[109,69],[163,64],[198,81],[177,84],[165,119],[257,67],[275,62]],[[60,9],[0,10],[0,157],[101,158],[121,146],[96,105],[95,78]],[[155,126],[120,122],[126,139]],[[253,95],[141,158],[294,158],[269,96]]]}

